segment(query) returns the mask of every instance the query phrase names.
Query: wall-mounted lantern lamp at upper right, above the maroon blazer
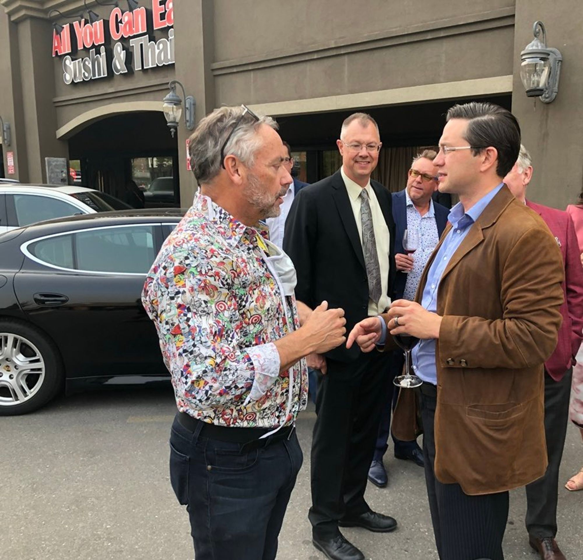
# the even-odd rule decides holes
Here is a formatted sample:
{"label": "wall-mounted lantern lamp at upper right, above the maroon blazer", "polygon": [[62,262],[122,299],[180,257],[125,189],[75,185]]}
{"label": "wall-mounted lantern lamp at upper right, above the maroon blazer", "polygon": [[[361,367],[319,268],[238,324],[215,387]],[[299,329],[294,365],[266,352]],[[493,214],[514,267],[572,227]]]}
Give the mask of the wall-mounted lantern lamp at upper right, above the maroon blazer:
{"label": "wall-mounted lantern lamp at upper right, above the maroon blazer", "polygon": [[522,60],[520,79],[527,97],[539,97],[543,103],[550,103],[557,97],[559,91],[563,57],[556,48],[547,47],[543,22],[534,23],[532,34],[535,38],[520,54]]}

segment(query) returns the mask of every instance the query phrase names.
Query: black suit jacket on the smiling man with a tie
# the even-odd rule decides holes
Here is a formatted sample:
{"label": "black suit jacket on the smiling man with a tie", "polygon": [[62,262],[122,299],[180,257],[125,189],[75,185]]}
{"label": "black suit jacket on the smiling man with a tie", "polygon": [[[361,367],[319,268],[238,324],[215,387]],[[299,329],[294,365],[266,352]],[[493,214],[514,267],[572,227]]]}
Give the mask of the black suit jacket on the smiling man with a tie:
{"label": "black suit jacket on the smiling man with a tie", "polygon": [[[371,181],[391,235],[388,295],[395,276],[391,193]],[[294,198],[287,216],[283,249],[297,272],[296,297],[312,309],[328,301],[328,307],[342,307],[346,332],[368,315],[368,278],[362,245],[352,206],[340,171],[305,186]],[[382,310],[381,310],[382,311]],[[360,349],[344,345],[326,354],[333,360],[356,360]]]}

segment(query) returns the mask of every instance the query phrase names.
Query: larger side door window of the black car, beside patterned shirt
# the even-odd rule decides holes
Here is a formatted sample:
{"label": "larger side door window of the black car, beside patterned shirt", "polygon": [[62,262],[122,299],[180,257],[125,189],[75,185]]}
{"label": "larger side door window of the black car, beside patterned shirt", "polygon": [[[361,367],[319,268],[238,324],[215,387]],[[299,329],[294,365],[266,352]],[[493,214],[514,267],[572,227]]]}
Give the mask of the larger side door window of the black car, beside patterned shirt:
{"label": "larger side door window of the black car, beside patterned shirt", "polygon": [[127,226],[75,234],[77,270],[145,274],[152,266],[153,226]]}

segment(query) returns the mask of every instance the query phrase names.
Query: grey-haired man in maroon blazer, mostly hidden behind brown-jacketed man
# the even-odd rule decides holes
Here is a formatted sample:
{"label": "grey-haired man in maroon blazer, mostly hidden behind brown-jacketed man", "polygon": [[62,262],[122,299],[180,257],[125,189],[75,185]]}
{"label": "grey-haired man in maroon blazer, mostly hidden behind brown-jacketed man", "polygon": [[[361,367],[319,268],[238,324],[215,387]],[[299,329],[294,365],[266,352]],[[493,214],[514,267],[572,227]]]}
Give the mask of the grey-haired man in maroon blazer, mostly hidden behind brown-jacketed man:
{"label": "grey-haired man in maroon blazer, mostly hidden behind brown-jacketed man", "polygon": [[526,188],[531,179],[531,156],[521,145],[518,160],[504,177],[504,182],[517,200],[538,213],[549,226],[563,255],[565,281],[559,341],[545,362],[545,432],[549,466],[545,476],[526,486],[526,530],[531,547],[542,560],[565,560],[555,540],[557,499],[559,467],[567,436],[573,365],[582,339],[583,268],[573,220],[567,212],[527,200]]}

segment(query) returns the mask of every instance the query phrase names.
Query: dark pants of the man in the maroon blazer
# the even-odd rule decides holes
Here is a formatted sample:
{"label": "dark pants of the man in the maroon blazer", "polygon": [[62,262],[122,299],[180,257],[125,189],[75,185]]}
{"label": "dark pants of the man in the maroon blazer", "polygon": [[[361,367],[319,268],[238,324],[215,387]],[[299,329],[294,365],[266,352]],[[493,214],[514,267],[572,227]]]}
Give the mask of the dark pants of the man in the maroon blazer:
{"label": "dark pants of the man in the maroon blazer", "polygon": [[573,369],[561,381],[545,372],[545,436],[549,466],[545,476],[526,485],[526,530],[533,537],[555,537],[557,534],[557,499],[559,466],[567,436],[569,397]]}

